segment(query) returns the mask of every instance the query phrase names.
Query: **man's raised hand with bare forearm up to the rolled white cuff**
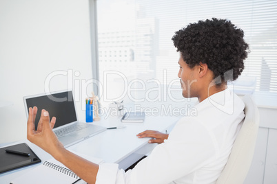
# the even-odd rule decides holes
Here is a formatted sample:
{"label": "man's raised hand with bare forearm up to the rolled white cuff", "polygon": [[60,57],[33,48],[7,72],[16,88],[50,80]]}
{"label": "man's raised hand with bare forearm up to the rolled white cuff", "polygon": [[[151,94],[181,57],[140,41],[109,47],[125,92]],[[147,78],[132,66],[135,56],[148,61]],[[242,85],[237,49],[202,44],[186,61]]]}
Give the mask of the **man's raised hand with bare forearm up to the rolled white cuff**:
{"label": "man's raised hand with bare forearm up to the rolled white cuff", "polygon": [[95,183],[99,165],[87,161],[63,147],[63,144],[52,130],[56,123],[56,117],[52,117],[50,122],[48,111],[41,111],[41,118],[39,119],[37,130],[35,130],[34,119],[36,119],[36,115],[37,107],[29,108],[27,124],[28,140],[50,153],[54,159],[63,163],[63,165],[72,170],[72,172],[84,181]]}

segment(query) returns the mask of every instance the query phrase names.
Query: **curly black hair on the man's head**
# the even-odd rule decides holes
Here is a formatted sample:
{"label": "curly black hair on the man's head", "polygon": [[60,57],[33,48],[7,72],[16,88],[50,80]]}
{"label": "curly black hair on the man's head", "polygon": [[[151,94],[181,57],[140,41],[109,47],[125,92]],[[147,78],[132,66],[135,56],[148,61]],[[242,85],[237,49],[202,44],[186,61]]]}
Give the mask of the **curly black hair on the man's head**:
{"label": "curly black hair on the man's head", "polygon": [[206,63],[214,72],[214,78],[220,76],[224,79],[224,73],[232,70],[233,76],[228,80],[236,80],[244,69],[243,60],[249,53],[243,36],[243,30],[231,21],[212,18],[190,23],[175,32],[172,41],[190,68],[200,62]]}

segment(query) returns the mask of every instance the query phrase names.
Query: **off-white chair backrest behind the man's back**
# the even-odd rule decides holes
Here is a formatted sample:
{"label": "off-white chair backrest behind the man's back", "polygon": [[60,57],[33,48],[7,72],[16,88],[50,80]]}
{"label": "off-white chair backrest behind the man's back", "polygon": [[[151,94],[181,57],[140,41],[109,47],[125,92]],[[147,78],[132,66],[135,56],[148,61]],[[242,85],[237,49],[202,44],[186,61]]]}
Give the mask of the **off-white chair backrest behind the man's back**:
{"label": "off-white chair backrest behind the man's back", "polygon": [[245,95],[243,102],[245,103],[243,126],[216,184],[243,184],[252,163],[260,117],[258,108],[250,95]]}

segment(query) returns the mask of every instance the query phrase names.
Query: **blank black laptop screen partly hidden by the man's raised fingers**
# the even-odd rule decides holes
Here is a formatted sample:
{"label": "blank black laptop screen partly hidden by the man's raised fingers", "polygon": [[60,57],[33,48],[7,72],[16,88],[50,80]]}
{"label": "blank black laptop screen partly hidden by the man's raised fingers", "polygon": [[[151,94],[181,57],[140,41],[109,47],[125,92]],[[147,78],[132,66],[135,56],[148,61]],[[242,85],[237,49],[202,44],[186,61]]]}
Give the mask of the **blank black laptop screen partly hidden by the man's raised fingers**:
{"label": "blank black laptop screen partly hidden by the man's raised fingers", "polygon": [[51,118],[57,117],[54,128],[77,121],[76,111],[72,91],[42,95],[39,97],[25,98],[25,103],[29,111],[30,107],[37,106],[37,117],[34,121],[37,130],[37,124],[41,117],[41,110],[45,109]]}

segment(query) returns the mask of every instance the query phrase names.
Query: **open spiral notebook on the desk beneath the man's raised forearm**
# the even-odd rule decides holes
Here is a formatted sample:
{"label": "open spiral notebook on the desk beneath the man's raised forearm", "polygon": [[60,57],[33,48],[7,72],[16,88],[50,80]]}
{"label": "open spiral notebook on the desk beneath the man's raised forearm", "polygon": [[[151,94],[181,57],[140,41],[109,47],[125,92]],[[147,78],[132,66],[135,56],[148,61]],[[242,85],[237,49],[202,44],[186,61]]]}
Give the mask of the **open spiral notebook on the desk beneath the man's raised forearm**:
{"label": "open spiral notebook on the desk beneath the man's raised forearm", "polygon": [[[79,156],[81,156],[79,154]],[[86,157],[85,159],[88,159]],[[91,158],[88,159],[94,163],[101,163],[103,160]],[[60,163],[55,159],[50,159],[45,161],[43,164],[39,165],[37,168],[34,168],[30,172],[19,176],[17,179],[14,179],[10,184],[49,184],[49,183],[59,183],[59,184],[84,184],[85,181],[81,180],[70,169],[66,168],[65,165]]]}

